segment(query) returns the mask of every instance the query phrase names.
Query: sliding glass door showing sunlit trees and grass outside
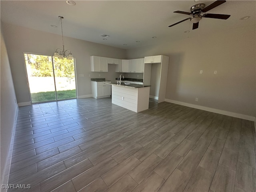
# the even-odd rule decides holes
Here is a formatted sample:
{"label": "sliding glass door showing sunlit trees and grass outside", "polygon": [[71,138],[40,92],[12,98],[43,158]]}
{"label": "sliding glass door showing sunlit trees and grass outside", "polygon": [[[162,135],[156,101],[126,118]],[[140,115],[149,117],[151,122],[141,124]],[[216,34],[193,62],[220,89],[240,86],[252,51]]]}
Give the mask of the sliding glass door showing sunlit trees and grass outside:
{"label": "sliding glass door showing sunlit trees and grass outside", "polygon": [[24,53],[24,60],[31,103],[77,97],[74,59]]}

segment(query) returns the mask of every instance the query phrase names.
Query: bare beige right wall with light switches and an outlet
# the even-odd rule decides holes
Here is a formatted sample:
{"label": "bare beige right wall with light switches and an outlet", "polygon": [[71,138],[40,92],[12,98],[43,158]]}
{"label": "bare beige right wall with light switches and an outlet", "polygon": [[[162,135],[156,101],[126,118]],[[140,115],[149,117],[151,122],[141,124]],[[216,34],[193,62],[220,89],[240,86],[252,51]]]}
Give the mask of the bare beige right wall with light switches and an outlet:
{"label": "bare beige right wall with light switches and an outlet", "polygon": [[[166,99],[255,117],[255,25],[129,49],[170,57]],[[203,70],[203,74],[199,74]],[[217,74],[214,74],[214,71]],[[195,101],[198,98],[198,102]]]}

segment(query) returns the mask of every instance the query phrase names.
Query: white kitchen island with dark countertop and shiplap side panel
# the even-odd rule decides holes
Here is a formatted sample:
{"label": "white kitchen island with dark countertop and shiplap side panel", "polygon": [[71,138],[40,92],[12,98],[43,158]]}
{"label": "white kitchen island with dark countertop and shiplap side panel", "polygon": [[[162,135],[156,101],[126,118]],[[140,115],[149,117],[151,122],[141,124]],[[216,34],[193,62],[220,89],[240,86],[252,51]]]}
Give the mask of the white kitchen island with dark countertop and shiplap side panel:
{"label": "white kitchen island with dark countertop and shiplap side panel", "polygon": [[112,103],[134,112],[148,109],[149,85],[125,84],[112,85]]}

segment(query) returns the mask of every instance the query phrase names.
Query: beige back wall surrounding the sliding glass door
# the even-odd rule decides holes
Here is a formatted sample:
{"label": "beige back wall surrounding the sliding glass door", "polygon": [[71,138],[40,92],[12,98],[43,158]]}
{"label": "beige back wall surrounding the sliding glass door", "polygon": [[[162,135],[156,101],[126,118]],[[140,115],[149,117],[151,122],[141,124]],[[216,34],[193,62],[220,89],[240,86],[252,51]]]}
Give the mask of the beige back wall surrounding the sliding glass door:
{"label": "beige back wall surrounding the sliding glass door", "polygon": [[[62,48],[62,36],[21,26],[2,23],[6,48],[9,53],[10,67],[18,103],[29,103],[29,91],[23,52],[52,56],[56,48]],[[76,63],[78,98],[91,96],[91,78],[106,78],[115,81],[118,74],[114,66],[109,72],[91,72],[90,56],[103,56],[123,59],[126,50],[64,36],[65,48],[72,51]],[[84,74],[79,75],[79,74]],[[90,74],[90,76],[89,76]]]}

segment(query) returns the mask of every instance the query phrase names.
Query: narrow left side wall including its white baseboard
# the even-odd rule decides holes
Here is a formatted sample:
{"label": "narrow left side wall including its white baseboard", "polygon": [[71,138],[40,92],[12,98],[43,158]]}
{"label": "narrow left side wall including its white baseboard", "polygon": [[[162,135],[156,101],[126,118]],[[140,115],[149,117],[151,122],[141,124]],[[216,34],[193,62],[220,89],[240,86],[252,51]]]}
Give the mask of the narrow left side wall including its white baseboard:
{"label": "narrow left side wall including its white baseboard", "polygon": [[[15,132],[16,118],[18,112],[18,105],[16,103],[16,95],[14,91],[14,85],[12,81],[12,74],[10,70],[10,63],[8,59],[8,53],[6,50],[6,44],[2,33],[1,26],[1,47],[0,47],[0,137],[1,137],[1,167],[0,177],[1,185],[7,184],[8,175],[11,163],[12,152],[12,135]],[[4,191],[4,189],[3,189]]]}

